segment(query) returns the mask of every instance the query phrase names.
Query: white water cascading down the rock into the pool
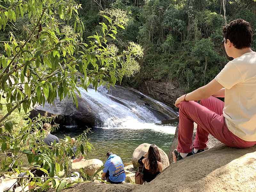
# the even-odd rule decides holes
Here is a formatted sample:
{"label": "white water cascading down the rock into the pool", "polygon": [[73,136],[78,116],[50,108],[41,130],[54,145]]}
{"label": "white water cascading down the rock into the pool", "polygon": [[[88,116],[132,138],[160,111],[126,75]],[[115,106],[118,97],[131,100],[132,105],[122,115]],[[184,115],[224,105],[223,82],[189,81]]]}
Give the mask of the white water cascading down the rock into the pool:
{"label": "white water cascading down the rock into the pool", "polygon": [[[147,106],[110,95],[108,94],[108,89],[104,86],[98,87],[97,92],[90,88],[87,89],[88,92],[82,88],[78,89],[81,96],[86,98],[92,108],[92,113],[98,119],[98,124],[96,125],[98,127],[154,129],[161,132],[175,132],[175,127],[173,126],[156,125],[155,123],[159,119]],[[141,94],[140,92],[137,93]],[[143,94],[141,96],[147,97]],[[153,101],[157,105],[166,108],[166,110],[172,110],[159,101]]]}

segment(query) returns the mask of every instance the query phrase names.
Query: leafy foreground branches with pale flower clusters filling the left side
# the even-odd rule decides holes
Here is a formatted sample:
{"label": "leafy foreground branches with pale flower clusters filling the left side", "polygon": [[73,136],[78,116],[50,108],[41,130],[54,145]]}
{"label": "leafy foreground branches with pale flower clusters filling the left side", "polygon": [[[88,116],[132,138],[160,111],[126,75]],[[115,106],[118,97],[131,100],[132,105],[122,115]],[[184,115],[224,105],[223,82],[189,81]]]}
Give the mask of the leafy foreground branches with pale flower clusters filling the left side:
{"label": "leafy foreground branches with pale flower clusters filling the left side", "polygon": [[[100,85],[109,87],[133,76],[140,70],[143,49],[132,41],[121,50],[114,44],[117,31],[125,29],[129,21],[121,9],[100,11],[104,21],[98,32],[84,36],[78,12],[81,4],[73,0],[0,2],[0,177],[7,172],[16,176],[26,172],[34,177],[35,169],[40,169],[48,177],[46,181],[34,177],[26,185],[39,190],[52,186],[60,191],[70,184],[53,177],[62,170],[65,176],[70,173],[73,145],[77,146],[76,156],[85,158],[92,145],[86,132],[75,144],[66,137],[60,143],[45,145],[48,130],[42,128],[43,123],[51,123],[54,117],[30,119],[28,110],[65,97],[72,98],[77,107],[77,87],[87,89],[92,84],[96,91]],[[24,155],[28,161],[25,170]]]}

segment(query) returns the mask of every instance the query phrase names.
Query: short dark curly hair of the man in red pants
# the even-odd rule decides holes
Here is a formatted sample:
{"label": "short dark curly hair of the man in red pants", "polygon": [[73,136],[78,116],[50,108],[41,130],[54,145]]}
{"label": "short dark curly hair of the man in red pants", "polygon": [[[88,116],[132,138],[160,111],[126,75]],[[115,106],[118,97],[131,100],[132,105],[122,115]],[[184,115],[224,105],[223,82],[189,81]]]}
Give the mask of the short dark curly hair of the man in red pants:
{"label": "short dark curly hair of the man in red pants", "polygon": [[225,40],[229,39],[236,49],[251,47],[252,28],[250,23],[243,19],[233,20],[223,27],[223,36]]}

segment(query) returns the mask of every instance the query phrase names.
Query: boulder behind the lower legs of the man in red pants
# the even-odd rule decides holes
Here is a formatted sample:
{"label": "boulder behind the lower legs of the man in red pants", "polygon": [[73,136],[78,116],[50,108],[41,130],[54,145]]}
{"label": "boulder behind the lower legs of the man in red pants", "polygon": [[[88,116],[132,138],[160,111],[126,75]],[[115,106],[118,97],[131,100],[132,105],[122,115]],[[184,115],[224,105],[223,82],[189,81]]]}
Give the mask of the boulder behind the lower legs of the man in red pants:
{"label": "boulder behind the lower legs of the man in red pants", "polygon": [[[195,137],[196,137],[196,129],[197,129],[197,124],[194,123],[193,142],[194,142]],[[170,151],[169,151],[169,156],[168,157],[169,157],[170,164],[173,163],[172,151],[174,149],[176,149],[177,145],[178,145],[178,131],[179,131],[179,126],[176,127],[175,135],[174,135],[174,138],[172,140],[172,145],[171,145]],[[208,140],[207,147],[205,148],[205,150],[213,148],[213,147],[215,147],[215,146],[217,146],[221,143],[219,140],[214,138],[211,134],[209,134],[208,139],[209,140]]]}

